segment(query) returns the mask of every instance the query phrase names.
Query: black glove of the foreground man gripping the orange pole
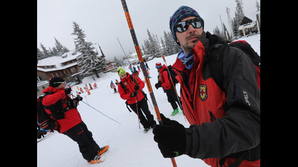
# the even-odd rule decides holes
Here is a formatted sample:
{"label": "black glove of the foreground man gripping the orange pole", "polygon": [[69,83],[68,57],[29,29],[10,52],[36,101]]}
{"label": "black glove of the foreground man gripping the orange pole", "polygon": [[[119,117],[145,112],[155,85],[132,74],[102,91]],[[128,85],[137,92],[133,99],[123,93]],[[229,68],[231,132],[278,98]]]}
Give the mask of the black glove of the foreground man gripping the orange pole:
{"label": "black glove of the foreground man gripping the orange pole", "polygon": [[179,122],[161,115],[163,125],[153,127],[154,141],[164,158],[174,158],[185,153],[186,131]]}

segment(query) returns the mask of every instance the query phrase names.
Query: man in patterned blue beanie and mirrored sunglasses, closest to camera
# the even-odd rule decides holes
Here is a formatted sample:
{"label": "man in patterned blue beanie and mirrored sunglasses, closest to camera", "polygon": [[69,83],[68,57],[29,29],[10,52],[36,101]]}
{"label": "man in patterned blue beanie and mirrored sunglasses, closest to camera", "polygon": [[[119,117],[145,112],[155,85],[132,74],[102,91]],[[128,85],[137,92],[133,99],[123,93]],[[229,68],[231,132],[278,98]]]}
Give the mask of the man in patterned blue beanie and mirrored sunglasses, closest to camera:
{"label": "man in patterned blue beanie and mirrored sunglasses, closest to camera", "polygon": [[213,167],[260,166],[260,90],[255,65],[240,49],[224,51],[221,90],[204,58],[213,45],[230,41],[204,32],[203,19],[188,6],[175,11],[170,28],[182,48],[171,75],[181,85],[182,107],[190,126],[185,128],[161,114],[163,124],[155,125],[153,134],[162,155],[186,154]]}

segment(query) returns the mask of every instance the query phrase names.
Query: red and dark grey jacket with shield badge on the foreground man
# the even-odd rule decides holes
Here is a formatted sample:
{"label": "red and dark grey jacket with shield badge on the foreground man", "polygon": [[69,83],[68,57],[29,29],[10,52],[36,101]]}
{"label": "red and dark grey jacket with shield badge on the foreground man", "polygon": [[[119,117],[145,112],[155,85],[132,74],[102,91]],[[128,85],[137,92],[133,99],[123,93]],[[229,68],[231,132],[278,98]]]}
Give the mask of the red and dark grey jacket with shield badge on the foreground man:
{"label": "red and dark grey jacket with shield badge on the foreground man", "polygon": [[[190,123],[186,128],[185,154],[219,167],[220,158],[260,144],[260,90],[255,65],[234,47],[223,56],[224,89],[227,91],[217,86],[208,64],[204,64],[212,40],[215,43],[229,42],[203,32],[192,49],[192,69],[186,69],[177,58],[172,65],[175,73],[171,74],[181,85],[183,112]],[[246,95],[248,99],[245,99]],[[235,160],[226,158],[224,166]],[[260,166],[260,159],[253,162],[244,160],[239,167],[248,166]]]}

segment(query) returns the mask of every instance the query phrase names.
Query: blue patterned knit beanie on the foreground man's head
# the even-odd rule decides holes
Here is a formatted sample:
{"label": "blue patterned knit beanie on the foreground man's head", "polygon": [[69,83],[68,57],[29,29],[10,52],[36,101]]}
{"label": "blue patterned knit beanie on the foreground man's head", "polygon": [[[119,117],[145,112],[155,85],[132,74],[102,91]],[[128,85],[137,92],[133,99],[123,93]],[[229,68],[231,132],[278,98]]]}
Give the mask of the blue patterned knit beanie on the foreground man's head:
{"label": "blue patterned knit beanie on the foreground man's head", "polygon": [[[200,15],[198,14],[198,12],[196,12],[193,8],[190,8],[188,6],[181,6],[180,8],[178,8],[175,11],[175,13],[172,15],[172,17],[170,19],[171,33],[172,33],[172,36],[173,36],[175,42],[178,45],[180,45],[180,44],[177,42],[174,26],[176,25],[176,23],[181,22],[181,20],[183,18],[188,17],[188,16],[195,16],[195,17],[201,18]],[[201,19],[203,21],[203,30],[204,30],[204,20],[203,20],[203,18],[201,18]]]}

